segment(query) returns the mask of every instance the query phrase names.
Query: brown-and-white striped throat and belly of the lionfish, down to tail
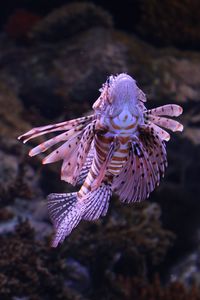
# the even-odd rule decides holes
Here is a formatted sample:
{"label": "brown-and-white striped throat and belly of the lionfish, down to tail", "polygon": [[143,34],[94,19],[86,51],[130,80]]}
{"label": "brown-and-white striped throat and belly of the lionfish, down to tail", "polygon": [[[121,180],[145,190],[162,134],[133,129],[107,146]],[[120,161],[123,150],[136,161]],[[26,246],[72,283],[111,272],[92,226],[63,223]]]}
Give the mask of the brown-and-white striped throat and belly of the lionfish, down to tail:
{"label": "brown-and-white striped throat and belly of the lionfish, down to tail", "polygon": [[[92,190],[93,182],[99,175],[101,166],[106,160],[110,145],[114,140],[116,140],[117,146],[107,165],[104,181],[112,183],[113,177],[120,174],[120,171],[127,161],[131,140],[137,135],[139,119],[141,119],[140,116],[132,115],[126,105],[118,116],[113,118],[102,117],[100,119],[100,124],[102,127],[106,126],[107,132],[95,136],[93,163],[88,172],[88,176],[78,192],[79,198],[84,197]],[[95,186],[95,188],[96,187],[97,186]]]}

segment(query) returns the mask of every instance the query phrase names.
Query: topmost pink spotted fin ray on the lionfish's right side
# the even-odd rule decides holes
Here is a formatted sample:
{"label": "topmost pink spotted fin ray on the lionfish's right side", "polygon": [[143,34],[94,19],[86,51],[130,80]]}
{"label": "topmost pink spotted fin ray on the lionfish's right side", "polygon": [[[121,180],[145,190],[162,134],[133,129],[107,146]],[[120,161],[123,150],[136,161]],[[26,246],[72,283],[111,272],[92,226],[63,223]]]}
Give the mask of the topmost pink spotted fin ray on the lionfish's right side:
{"label": "topmost pink spotted fin ray on the lionfish's right side", "polygon": [[163,106],[159,106],[153,109],[147,110],[146,114],[154,115],[154,116],[170,116],[170,117],[178,117],[182,114],[183,109],[181,106],[177,104],[167,104]]}

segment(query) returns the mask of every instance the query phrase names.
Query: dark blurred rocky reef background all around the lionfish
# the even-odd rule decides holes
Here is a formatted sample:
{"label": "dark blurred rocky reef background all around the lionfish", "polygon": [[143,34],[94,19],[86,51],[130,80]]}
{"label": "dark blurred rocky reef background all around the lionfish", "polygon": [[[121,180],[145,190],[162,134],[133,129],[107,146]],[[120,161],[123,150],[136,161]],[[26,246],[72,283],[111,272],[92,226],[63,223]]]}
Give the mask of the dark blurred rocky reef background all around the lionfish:
{"label": "dark blurred rocky reef background all around the lionfish", "polygon": [[[7,0],[0,10],[0,299],[200,299],[200,2]],[[143,203],[113,197],[57,249],[46,210],[69,192],[60,164],[29,158],[35,126],[91,110],[110,74],[127,72],[147,107],[177,103],[183,133]]]}

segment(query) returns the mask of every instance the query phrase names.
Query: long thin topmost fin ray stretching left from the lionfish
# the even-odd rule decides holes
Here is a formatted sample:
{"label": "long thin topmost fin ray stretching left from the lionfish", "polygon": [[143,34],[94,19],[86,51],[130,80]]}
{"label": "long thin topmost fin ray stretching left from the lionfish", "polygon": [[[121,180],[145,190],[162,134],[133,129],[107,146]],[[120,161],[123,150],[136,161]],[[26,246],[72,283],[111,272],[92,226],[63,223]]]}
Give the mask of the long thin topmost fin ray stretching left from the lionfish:
{"label": "long thin topmost fin ray stretching left from the lionfish", "polygon": [[76,127],[78,125],[86,125],[87,123],[90,123],[95,118],[94,115],[86,116],[82,118],[73,119],[70,121],[65,121],[53,125],[46,125],[41,127],[35,127],[28,132],[26,132],[23,135],[20,135],[18,137],[19,140],[22,140],[23,143],[26,143],[30,139],[33,139],[35,137],[41,136],[46,133],[55,132],[55,131],[67,131],[70,130],[73,127]]}

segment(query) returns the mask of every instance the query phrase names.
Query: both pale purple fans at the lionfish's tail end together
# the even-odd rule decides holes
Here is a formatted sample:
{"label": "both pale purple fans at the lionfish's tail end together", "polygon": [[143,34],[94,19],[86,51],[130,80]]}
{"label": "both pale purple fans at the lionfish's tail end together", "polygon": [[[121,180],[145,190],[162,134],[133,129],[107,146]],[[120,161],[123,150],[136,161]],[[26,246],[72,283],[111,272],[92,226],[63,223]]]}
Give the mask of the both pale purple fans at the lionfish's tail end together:
{"label": "both pale purple fans at the lionfish's tail end together", "polygon": [[77,193],[50,194],[48,211],[56,230],[52,247],[57,247],[83,220],[97,220],[108,211],[112,191],[109,184],[102,184],[89,192],[84,198],[77,198]]}

